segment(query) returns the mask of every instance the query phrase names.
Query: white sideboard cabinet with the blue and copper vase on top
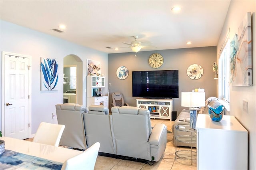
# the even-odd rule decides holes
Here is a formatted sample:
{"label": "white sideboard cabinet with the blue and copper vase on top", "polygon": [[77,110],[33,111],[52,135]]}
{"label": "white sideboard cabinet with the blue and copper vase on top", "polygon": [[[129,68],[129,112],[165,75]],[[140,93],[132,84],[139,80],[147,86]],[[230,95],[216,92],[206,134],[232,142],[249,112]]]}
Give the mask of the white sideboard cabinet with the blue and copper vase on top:
{"label": "white sideboard cabinet with the blue and copper vase on top", "polygon": [[196,131],[198,170],[247,170],[248,131],[234,116],[214,122],[198,114]]}

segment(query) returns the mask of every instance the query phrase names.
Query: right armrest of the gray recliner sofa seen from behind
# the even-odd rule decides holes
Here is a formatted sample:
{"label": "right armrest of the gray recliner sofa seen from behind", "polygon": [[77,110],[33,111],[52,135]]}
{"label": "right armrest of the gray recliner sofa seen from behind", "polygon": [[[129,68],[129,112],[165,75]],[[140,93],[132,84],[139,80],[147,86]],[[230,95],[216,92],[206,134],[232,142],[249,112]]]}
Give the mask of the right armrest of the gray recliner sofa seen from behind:
{"label": "right armrest of the gray recliner sofa seen from behind", "polygon": [[157,123],[154,126],[150,134],[150,137],[148,139],[148,142],[150,143],[150,145],[159,145],[162,135],[164,134],[167,135],[167,133],[163,132],[164,130],[166,130],[166,125],[162,123]]}

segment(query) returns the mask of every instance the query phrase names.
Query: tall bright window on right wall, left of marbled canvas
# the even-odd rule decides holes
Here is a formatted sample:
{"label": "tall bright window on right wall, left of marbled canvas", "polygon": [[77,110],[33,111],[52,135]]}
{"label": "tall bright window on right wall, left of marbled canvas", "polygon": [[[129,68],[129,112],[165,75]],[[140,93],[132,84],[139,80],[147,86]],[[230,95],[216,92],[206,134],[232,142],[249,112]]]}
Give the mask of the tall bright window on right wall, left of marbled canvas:
{"label": "tall bright window on right wall, left of marbled canvas", "polygon": [[230,101],[230,41],[228,40],[220,53],[219,58],[219,99]]}

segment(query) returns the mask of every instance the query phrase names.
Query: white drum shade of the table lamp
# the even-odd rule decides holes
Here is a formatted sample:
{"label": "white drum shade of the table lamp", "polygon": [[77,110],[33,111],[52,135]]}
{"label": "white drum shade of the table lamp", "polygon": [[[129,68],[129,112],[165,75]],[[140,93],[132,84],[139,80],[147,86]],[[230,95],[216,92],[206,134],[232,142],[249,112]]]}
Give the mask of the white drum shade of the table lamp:
{"label": "white drum shade of the table lamp", "polygon": [[182,107],[203,107],[205,106],[205,92],[181,92]]}

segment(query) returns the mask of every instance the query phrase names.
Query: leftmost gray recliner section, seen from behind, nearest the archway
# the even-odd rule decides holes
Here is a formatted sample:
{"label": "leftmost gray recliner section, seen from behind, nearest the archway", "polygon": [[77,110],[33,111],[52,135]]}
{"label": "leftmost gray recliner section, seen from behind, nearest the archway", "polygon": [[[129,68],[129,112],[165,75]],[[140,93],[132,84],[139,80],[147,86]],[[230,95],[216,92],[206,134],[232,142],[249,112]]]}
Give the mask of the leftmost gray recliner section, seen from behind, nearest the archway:
{"label": "leftmost gray recliner section, seen from behind, nearest the archway", "polygon": [[60,145],[87,149],[83,113],[87,113],[88,109],[73,103],[57,104],[55,107],[58,124],[65,125]]}

